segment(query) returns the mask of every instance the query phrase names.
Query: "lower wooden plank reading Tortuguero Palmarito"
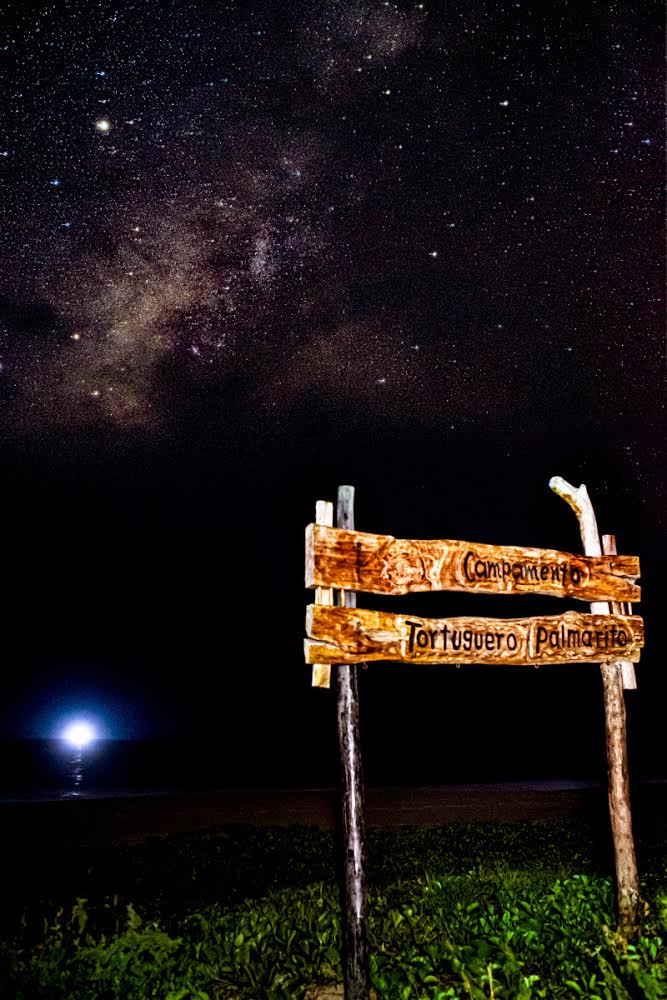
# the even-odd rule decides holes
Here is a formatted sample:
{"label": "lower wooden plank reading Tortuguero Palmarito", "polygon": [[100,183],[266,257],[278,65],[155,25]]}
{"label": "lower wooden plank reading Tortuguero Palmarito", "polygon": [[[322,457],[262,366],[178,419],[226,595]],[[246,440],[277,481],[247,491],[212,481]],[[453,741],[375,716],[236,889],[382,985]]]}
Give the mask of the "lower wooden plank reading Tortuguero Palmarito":
{"label": "lower wooden plank reading Tortuguero Palmarito", "polygon": [[636,615],[568,611],[541,618],[417,618],[362,608],[307,609],[306,663],[637,663],[644,622]]}

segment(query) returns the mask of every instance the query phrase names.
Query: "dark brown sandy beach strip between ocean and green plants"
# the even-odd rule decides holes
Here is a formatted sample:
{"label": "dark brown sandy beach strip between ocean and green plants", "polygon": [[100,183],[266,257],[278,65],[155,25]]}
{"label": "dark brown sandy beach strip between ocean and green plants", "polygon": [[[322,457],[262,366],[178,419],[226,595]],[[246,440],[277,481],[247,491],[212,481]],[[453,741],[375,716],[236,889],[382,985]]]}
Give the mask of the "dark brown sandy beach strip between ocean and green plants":
{"label": "dark brown sandy beach strip between ocean and green plants", "polygon": [[[0,803],[6,848],[133,843],[234,823],[335,826],[337,792],[312,789],[226,789],[152,795]],[[367,789],[369,826],[439,826],[451,822],[603,819],[606,789],[584,782],[516,783]],[[635,823],[667,817],[667,784],[633,789]]]}

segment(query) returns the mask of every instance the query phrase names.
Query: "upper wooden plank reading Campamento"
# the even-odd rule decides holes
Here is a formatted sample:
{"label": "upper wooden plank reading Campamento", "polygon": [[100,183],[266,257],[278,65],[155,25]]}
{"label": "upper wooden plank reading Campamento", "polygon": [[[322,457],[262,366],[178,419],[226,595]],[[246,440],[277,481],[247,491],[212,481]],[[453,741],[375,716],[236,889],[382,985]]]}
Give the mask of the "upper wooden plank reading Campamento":
{"label": "upper wooden plank reading Campamento", "polygon": [[371,594],[468,590],[551,594],[582,601],[639,601],[636,556],[579,556],[553,549],[408,540],[320,524],[306,528],[306,586]]}

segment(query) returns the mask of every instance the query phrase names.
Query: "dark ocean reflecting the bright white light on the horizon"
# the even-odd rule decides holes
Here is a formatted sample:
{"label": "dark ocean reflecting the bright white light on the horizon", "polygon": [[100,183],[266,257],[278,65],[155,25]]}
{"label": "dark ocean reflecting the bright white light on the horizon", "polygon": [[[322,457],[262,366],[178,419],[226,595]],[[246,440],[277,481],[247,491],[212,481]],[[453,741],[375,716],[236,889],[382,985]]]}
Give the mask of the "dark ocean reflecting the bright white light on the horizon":
{"label": "dark ocean reflecting the bright white light on the horizon", "polygon": [[[306,748],[307,749],[307,748]],[[577,773],[497,774],[479,768],[453,775],[442,762],[423,767],[371,768],[370,785],[432,787],[463,791],[503,787],[520,790],[566,791],[604,787],[606,775]],[[412,773],[411,773],[412,772]],[[237,752],[221,749],[216,740],[96,740],[76,749],[63,740],[0,741],[0,802],[106,798],[215,792],[220,789],[333,788],[338,783],[335,743],[327,759],[309,755],[303,747],[252,754],[248,744]],[[633,786],[649,776],[635,776]],[[643,780],[642,780],[643,779]],[[650,784],[664,785],[664,779]]]}

